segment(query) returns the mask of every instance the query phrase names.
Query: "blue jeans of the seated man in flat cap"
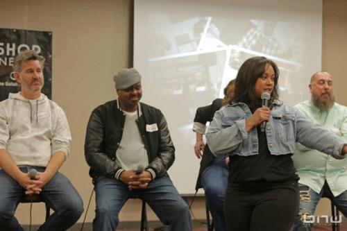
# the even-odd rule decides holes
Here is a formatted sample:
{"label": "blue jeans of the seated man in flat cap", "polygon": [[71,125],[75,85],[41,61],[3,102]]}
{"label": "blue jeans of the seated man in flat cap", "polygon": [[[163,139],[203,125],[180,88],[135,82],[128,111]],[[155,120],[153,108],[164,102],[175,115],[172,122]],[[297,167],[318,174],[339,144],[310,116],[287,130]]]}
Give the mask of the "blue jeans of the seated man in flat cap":
{"label": "blue jeans of the seated man in flat cap", "polygon": [[137,197],[146,201],[170,230],[191,231],[192,223],[189,208],[180,197],[170,178],[155,178],[146,189],[129,191],[123,182],[105,176],[96,178],[96,214],[93,230],[115,230],[119,223],[119,211],[129,197]]}

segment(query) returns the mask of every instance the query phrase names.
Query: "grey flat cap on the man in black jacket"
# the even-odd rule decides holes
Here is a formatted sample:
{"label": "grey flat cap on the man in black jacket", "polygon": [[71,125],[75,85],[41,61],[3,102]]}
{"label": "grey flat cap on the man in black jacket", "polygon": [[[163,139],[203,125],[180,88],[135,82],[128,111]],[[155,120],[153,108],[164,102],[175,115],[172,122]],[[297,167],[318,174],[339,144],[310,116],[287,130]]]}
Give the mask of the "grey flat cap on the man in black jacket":
{"label": "grey flat cap on the man in black jacket", "polygon": [[141,82],[141,76],[135,68],[124,68],[113,77],[116,84],[116,89],[126,89],[139,82]]}

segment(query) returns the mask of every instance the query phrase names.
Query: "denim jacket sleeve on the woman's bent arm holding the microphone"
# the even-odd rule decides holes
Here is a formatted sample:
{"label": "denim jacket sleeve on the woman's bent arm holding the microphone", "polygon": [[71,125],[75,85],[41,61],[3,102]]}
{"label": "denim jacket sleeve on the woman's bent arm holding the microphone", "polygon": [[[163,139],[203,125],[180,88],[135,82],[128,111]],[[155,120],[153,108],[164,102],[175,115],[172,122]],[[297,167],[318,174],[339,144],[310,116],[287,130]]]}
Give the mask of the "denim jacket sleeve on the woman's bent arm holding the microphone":
{"label": "denim jacket sleeve on the woman's bent arm holding the microphone", "polygon": [[246,120],[240,119],[223,124],[223,112],[214,114],[206,134],[207,144],[214,155],[226,155],[248,139]]}

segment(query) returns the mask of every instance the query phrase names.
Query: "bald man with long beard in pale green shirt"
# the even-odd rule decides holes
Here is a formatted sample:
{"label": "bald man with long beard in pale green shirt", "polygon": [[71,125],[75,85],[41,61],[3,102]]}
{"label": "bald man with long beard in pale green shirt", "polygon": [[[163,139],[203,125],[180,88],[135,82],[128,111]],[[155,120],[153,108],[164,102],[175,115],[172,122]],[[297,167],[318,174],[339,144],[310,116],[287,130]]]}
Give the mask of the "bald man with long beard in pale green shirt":
{"label": "bald man with long beard in pale green shirt", "polygon": [[[335,103],[332,76],[325,71],[314,74],[310,81],[311,100],[295,106],[307,118],[347,140],[347,108]],[[300,210],[294,231],[311,230],[312,215],[322,196],[347,215],[347,159],[335,160],[315,149],[296,144],[293,155],[299,180]]]}

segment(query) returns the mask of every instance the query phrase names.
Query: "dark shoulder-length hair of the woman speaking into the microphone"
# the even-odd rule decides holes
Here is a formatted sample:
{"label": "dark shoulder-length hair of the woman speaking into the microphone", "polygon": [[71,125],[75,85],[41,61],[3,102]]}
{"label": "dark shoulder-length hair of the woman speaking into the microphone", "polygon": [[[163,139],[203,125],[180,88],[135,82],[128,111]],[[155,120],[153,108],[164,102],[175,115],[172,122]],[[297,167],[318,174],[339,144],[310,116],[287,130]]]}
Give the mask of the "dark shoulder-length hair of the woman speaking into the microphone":
{"label": "dark shoulder-length hair of the woman speaking into the microphone", "polygon": [[252,111],[259,107],[261,101],[255,98],[255,82],[257,82],[257,78],[260,78],[266,71],[266,65],[271,65],[275,72],[275,85],[271,92],[271,98],[269,100],[270,105],[274,100],[279,98],[278,76],[280,71],[276,63],[265,57],[257,56],[248,58],[239,68],[236,77],[234,96],[231,99],[232,102],[246,103]]}

